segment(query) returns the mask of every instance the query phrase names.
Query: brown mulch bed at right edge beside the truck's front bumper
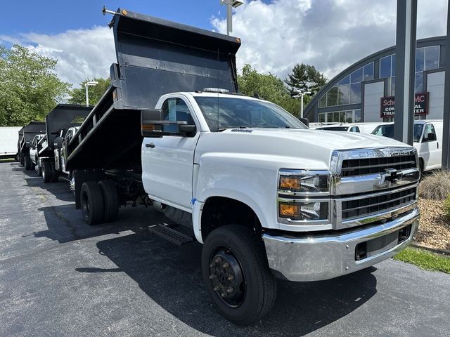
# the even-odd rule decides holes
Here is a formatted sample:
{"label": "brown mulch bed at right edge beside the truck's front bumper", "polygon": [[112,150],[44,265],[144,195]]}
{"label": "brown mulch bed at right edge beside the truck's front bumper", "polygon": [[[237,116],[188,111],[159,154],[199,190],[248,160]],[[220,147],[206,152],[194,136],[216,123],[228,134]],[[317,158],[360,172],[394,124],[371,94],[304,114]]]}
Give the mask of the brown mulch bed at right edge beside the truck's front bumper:
{"label": "brown mulch bed at right edge beside the truck's front bumper", "polygon": [[444,214],[444,201],[419,199],[420,225],[416,242],[450,250],[450,218]]}

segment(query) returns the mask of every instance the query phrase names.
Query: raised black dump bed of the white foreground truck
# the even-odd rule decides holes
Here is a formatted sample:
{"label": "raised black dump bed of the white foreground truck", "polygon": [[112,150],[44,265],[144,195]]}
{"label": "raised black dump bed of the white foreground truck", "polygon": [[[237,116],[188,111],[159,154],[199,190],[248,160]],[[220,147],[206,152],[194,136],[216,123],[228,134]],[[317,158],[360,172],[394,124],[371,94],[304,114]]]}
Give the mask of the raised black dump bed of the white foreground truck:
{"label": "raised black dump bed of the white foreground truck", "polygon": [[238,91],[240,39],[117,10],[111,86],[68,146],[68,169],[139,169],[141,110],[161,95],[203,88]]}

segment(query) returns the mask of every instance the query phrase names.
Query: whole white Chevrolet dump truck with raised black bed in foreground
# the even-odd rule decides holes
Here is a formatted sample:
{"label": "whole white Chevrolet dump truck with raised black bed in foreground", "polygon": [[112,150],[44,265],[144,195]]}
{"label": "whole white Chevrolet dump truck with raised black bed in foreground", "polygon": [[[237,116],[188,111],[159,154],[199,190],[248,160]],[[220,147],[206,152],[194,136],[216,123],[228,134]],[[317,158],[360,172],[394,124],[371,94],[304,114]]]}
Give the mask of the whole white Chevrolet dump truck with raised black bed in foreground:
{"label": "whole white Chevrolet dump truck with raised black bed in foreground", "polygon": [[113,221],[127,204],[164,212],[181,229],[149,217],[149,230],[203,244],[207,291],[236,324],[269,312],[277,277],[347,275],[411,242],[416,149],[311,131],[281,107],[237,94],[234,37],[120,9],[110,26],[111,86],[68,144],[86,223]]}

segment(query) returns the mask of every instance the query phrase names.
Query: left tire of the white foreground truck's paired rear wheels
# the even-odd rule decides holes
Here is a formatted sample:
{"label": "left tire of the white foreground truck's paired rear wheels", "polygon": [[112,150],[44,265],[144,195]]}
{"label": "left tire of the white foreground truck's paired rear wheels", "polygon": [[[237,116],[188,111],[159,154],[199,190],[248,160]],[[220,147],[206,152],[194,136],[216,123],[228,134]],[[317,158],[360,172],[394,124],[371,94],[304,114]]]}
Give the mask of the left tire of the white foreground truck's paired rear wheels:
{"label": "left tire of the white foreground truck's paired rear wheels", "polygon": [[80,200],[84,221],[88,225],[96,225],[105,216],[105,202],[100,186],[96,181],[86,181],[80,191]]}

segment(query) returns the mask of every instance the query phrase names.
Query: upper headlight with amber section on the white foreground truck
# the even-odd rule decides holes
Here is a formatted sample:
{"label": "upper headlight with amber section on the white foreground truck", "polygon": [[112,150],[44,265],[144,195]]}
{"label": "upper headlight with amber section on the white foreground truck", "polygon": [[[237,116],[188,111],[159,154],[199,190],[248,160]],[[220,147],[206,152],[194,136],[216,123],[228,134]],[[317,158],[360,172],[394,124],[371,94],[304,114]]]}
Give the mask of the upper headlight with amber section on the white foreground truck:
{"label": "upper headlight with amber section on the white foreground truck", "polygon": [[280,170],[279,177],[280,192],[328,192],[328,171]]}

